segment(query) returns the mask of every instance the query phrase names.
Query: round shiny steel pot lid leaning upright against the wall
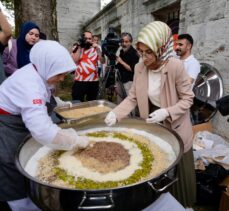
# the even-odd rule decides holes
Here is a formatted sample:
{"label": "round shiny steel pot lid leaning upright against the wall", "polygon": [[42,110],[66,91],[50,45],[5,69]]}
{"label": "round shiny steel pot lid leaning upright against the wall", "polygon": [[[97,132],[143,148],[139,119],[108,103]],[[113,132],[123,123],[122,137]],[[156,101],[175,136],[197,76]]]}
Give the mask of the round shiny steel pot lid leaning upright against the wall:
{"label": "round shiny steel pot lid leaning upright against the wall", "polygon": [[209,121],[216,113],[216,101],[223,96],[222,78],[213,66],[201,63],[201,70],[193,87],[195,94],[191,107],[192,123]]}

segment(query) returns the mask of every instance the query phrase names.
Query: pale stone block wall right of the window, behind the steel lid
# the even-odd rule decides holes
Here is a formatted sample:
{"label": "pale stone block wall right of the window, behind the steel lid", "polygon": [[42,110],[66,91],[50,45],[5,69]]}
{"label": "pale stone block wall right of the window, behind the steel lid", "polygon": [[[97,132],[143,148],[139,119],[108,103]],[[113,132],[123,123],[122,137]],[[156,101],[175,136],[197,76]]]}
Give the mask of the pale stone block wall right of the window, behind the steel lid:
{"label": "pale stone block wall right of the window, behind the steel lid", "polygon": [[[229,95],[229,1],[182,0],[180,33],[190,33],[193,53],[200,62],[214,66],[221,74],[224,95]],[[214,132],[229,139],[228,117],[213,118]]]}

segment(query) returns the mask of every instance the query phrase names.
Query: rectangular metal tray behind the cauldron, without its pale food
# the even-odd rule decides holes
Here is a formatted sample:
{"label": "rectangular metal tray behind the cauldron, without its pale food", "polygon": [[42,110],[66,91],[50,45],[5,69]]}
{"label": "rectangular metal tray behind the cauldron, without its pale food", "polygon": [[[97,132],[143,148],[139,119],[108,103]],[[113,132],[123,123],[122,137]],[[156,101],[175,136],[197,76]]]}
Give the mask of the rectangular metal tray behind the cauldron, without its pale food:
{"label": "rectangular metal tray behind the cauldron, without its pale food", "polygon": [[74,103],[71,108],[69,107],[56,107],[54,109],[54,112],[56,113],[57,117],[59,117],[63,122],[67,122],[69,124],[77,122],[84,122],[88,121],[94,118],[103,118],[105,115],[108,113],[108,111],[102,112],[102,113],[97,113],[97,114],[92,114],[92,115],[86,115],[84,117],[80,118],[66,118],[63,115],[61,115],[61,112],[63,111],[71,111],[71,110],[77,110],[79,108],[88,108],[88,107],[94,107],[94,106],[106,106],[111,109],[116,107],[117,105],[114,103],[111,103],[107,100],[93,100],[93,101],[88,101],[88,102],[82,102],[82,103]]}

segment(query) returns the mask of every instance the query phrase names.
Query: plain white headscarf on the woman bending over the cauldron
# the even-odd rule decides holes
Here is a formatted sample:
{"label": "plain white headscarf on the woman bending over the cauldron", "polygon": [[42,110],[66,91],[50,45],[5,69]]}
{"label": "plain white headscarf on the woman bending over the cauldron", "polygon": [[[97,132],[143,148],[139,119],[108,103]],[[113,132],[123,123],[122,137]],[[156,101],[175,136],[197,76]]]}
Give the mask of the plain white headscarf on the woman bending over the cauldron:
{"label": "plain white headscarf on the woman bending over the cauldron", "polygon": [[30,61],[46,82],[49,78],[76,69],[70,53],[56,41],[42,40],[30,51]]}

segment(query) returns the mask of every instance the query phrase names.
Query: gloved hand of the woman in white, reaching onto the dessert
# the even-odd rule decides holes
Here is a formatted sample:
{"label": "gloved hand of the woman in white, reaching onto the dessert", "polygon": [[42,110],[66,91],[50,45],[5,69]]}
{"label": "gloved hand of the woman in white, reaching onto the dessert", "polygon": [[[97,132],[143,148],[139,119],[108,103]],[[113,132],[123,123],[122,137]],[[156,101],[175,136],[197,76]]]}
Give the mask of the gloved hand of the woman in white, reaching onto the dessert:
{"label": "gloved hand of the woman in white, reaching onto the dessert", "polygon": [[52,143],[47,146],[58,150],[72,150],[86,148],[88,144],[88,137],[79,136],[73,128],[69,128],[59,130]]}

